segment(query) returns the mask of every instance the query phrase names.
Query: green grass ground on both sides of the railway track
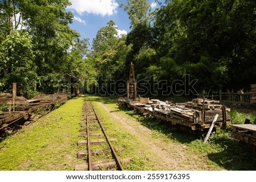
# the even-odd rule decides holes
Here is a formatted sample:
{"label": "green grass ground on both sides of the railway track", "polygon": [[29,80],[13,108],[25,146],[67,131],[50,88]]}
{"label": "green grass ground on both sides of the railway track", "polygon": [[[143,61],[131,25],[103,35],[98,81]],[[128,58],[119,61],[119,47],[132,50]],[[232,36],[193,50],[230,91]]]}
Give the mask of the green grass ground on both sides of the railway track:
{"label": "green grass ground on both sides of the railway track", "polygon": [[[118,107],[117,98],[93,96],[86,99],[93,102],[104,128],[112,133],[110,138],[117,138],[114,147],[124,147],[125,150],[117,151],[121,159],[133,158],[131,163],[125,164],[126,170],[254,170],[256,167],[251,160],[250,149],[246,149],[248,146],[230,138],[231,128],[217,129],[204,144],[206,133],[189,134],[181,132],[169,122],[144,118],[134,110]],[[83,101],[84,97],[69,100],[1,142],[0,170],[73,170],[75,164],[83,163],[84,160],[76,159],[77,151],[84,150],[76,146],[77,141],[85,139],[79,138],[79,129],[84,125],[81,118]],[[128,120],[142,137],[144,133],[139,125],[148,128],[150,133],[147,133],[145,141],[154,141],[157,150],[166,150],[168,145],[177,147],[176,151],[171,147],[170,156],[182,158],[179,166],[174,164],[172,168],[159,168],[161,161],[154,158],[147,143],[139,141],[138,136],[129,132],[111,113],[121,120]],[[240,120],[242,116],[256,117],[236,113],[232,116],[233,120]],[[106,155],[101,158],[106,158]]]}

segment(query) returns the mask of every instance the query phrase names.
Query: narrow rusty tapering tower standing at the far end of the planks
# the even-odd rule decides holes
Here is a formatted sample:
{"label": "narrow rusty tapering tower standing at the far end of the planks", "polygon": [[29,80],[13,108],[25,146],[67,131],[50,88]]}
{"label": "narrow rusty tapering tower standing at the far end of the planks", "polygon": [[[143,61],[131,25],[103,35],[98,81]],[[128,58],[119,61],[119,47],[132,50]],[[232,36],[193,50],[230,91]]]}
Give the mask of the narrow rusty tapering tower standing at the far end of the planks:
{"label": "narrow rusty tapering tower standing at the far end of the planks", "polygon": [[131,62],[130,66],[130,74],[129,74],[129,81],[127,84],[127,99],[136,100],[136,93],[137,93],[137,82],[134,76],[134,69],[133,69],[133,62]]}

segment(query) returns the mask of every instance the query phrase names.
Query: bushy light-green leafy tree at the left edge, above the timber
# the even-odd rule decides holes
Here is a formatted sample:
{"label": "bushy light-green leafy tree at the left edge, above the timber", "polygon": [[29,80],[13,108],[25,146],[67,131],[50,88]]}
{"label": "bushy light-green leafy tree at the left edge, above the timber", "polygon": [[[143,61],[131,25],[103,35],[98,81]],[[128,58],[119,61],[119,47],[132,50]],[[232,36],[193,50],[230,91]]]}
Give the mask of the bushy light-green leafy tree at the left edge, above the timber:
{"label": "bushy light-green leafy tree at the left edge, above the timber", "polygon": [[16,82],[17,90],[28,96],[38,81],[30,36],[27,32],[14,31],[0,44],[0,52],[0,89],[9,92]]}

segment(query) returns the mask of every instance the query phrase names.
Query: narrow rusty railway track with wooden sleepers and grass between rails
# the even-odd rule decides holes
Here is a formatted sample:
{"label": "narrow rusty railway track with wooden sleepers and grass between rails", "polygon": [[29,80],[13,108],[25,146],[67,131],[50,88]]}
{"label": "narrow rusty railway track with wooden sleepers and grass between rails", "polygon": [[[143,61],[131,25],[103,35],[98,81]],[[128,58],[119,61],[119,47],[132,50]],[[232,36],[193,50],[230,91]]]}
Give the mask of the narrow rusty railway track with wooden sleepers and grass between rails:
{"label": "narrow rusty railway track with wooden sleepers and grass between rails", "polygon": [[122,163],[118,158],[116,151],[123,149],[114,147],[112,144],[112,142],[117,141],[117,139],[109,138],[111,133],[106,132],[92,103],[86,101],[82,110],[85,127],[80,129],[80,137],[84,137],[85,139],[77,142],[77,145],[83,149],[77,153],[77,158],[86,160],[86,163],[76,165],[75,170],[122,171]]}

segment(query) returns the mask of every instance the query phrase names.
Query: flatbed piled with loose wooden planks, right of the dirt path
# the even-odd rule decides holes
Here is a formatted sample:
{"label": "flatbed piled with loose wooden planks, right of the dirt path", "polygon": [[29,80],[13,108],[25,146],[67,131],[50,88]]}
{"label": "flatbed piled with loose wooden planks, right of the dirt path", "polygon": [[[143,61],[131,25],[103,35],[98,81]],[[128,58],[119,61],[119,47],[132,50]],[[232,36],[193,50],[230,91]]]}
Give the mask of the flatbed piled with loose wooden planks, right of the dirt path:
{"label": "flatbed piled with loose wooden planks, right of the dirt path", "polygon": [[226,124],[230,123],[229,108],[220,105],[217,100],[198,98],[186,103],[174,104],[158,99],[142,98],[141,100],[130,101],[119,98],[118,104],[134,108],[144,116],[155,117],[171,122],[172,125],[179,125],[183,127],[182,129],[208,129],[216,114],[218,114],[216,125],[224,128]]}

